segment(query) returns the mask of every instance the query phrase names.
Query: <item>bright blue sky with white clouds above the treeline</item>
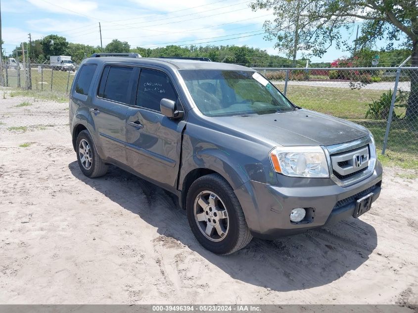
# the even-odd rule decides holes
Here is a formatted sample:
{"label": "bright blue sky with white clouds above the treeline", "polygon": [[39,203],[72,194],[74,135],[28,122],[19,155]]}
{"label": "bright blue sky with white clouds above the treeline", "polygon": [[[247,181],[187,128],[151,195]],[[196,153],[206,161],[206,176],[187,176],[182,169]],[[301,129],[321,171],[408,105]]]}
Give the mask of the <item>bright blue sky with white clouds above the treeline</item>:
{"label": "bright blue sky with white clouds above the treeline", "polygon": [[[263,22],[271,11],[253,12],[248,0],[2,0],[2,36],[6,53],[15,45],[48,34],[58,34],[69,42],[103,46],[112,39],[127,41],[131,47],[198,44],[248,45],[279,54],[274,43],[263,39]],[[354,40],[356,26],[343,31]],[[245,37],[244,37],[245,36]],[[237,38],[241,37],[241,38]],[[385,43],[378,43],[377,47]],[[302,52],[298,53],[298,57]],[[347,55],[335,46],[322,60]],[[318,58],[313,58],[318,59]]]}

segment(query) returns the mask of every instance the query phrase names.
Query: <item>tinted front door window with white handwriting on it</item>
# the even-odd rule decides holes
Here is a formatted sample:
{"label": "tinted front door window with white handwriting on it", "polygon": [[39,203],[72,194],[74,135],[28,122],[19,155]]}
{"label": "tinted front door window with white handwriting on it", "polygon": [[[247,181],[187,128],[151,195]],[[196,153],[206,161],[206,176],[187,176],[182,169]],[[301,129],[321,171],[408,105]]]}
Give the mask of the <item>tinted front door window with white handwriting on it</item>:
{"label": "tinted front door window with white handwriting on it", "polygon": [[137,105],[160,111],[162,98],[177,101],[177,92],[163,72],[142,69],[139,76]]}

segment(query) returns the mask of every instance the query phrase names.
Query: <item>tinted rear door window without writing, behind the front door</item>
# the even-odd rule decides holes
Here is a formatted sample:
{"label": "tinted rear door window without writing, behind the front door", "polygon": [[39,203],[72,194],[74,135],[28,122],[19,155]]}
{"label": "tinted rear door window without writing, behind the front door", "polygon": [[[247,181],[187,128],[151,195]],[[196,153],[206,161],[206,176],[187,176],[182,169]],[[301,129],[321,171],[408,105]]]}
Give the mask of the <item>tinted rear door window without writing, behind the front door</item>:
{"label": "tinted rear door window without writing, behind the front door", "polygon": [[132,71],[132,67],[107,66],[103,71],[98,95],[108,100],[128,103]]}

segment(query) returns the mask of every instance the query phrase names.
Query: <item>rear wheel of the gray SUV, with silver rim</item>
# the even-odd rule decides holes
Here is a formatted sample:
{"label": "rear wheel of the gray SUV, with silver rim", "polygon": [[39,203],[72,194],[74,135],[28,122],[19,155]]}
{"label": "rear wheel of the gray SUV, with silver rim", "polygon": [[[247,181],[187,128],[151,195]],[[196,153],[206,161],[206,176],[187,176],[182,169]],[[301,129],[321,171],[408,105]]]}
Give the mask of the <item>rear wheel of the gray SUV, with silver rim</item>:
{"label": "rear wheel of the gray SUV, with silver rim", "polygon": [[[85,147],[84,151],[82,151],[83,147]],[[87,130],[78,134],[76,152],[78,165],[85,176],[95,178],[106,174],[107,165],[97,154],[92,135]],[[83,156],[84,159],[82,158]],[[90,162],[88,160],[90,160]]]}

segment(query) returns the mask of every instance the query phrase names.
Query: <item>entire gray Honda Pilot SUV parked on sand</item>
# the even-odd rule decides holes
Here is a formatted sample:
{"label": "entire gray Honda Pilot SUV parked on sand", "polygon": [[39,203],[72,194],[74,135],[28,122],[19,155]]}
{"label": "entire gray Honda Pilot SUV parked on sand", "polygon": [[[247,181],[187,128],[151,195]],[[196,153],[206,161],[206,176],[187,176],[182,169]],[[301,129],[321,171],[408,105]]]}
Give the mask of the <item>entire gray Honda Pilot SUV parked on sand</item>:
{"label": "entire gray Honda Pilot SUV parked on sand", "polygon": [[84,175],[113,164],[176,194],[196,239],[220,255],[358,218],[381,189],[366,128],[300,108],[240,65],[93,54],[69,120]]}

